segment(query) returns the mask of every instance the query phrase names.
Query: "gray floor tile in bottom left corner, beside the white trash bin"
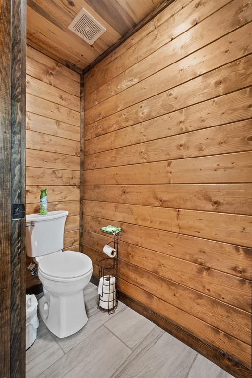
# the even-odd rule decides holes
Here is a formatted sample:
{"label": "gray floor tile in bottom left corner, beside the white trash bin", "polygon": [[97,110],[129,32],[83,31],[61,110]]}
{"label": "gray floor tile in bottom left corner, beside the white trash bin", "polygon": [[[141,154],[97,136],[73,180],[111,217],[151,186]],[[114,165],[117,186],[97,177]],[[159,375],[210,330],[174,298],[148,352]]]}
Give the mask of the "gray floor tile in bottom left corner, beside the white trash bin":
{"label": "gray floor tile in bottom left corner, beside the white trash bin", "polygon": [[26,351],[26,378],[37,377],[63,354],[47,329],[42,326],[34,344]]}

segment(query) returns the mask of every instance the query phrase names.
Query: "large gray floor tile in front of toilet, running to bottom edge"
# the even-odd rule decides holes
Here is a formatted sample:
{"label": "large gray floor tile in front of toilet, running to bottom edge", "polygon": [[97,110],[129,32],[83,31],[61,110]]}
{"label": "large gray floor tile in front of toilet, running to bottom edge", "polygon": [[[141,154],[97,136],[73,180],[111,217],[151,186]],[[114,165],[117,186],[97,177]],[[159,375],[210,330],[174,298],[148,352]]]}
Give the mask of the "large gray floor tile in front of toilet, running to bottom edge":
{"label": "large gray floor tile in front of toilet, running to bottom edge", "polygon": [[130,353],[124,343],[101,326],[39,378],[109,378]]}

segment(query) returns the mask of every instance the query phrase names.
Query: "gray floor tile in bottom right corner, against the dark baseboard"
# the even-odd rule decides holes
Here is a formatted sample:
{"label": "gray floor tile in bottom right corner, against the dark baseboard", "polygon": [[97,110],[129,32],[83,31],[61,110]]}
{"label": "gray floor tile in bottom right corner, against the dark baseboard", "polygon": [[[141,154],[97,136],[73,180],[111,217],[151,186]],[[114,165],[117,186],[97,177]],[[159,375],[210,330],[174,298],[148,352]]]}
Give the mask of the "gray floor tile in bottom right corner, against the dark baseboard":
{"label": "gray floor tile in bottom right corner, against the dark baseboard", "polygon": [[233,378],[207,358],[197,355],[187,378]]}

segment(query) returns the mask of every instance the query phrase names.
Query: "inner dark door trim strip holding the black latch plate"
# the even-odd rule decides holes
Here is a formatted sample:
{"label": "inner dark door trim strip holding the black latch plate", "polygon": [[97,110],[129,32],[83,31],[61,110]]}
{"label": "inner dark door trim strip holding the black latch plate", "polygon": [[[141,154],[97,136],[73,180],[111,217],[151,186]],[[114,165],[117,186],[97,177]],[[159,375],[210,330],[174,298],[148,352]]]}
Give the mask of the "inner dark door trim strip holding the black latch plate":
{"label": "inner dark door trim strip holding the black latch plate", "polygon": [[[26,0],[11,0],[11,204],[25,204]],[[11,221],[11,378],[25,377],[25,218]]]}

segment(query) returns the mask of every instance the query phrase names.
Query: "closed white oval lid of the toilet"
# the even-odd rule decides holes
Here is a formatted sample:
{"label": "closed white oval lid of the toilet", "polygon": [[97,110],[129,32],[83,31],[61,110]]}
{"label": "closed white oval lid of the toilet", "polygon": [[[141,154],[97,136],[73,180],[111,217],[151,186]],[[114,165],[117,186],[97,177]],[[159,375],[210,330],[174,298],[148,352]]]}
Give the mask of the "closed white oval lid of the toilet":
{"label": "closed white oval lid of the toilet", "polygon": [[92,269],[91,259],[75,251],[59,251],[47,254],[39,260],[39,270],[48,276],[74,278]]}

